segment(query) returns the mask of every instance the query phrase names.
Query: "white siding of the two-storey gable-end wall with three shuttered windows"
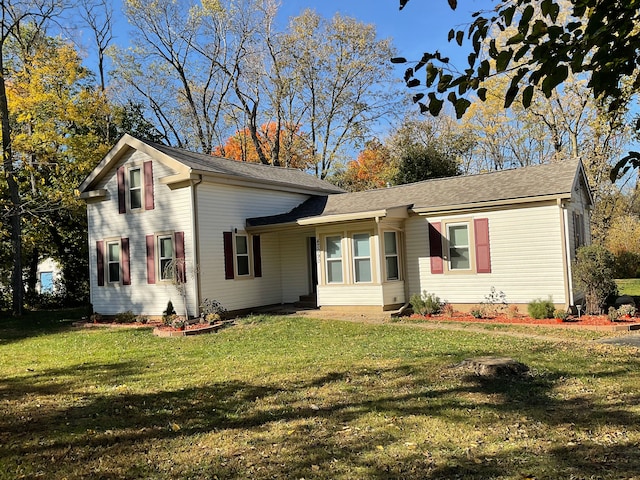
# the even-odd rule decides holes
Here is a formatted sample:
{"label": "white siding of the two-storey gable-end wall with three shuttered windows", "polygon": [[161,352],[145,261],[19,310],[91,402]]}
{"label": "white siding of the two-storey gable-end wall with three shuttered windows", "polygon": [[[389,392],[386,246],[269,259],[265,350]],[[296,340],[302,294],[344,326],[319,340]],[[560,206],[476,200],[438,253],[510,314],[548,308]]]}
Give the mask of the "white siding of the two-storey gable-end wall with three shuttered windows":
{"label": "white siding of the two-storey gable-end wall with three shuttered windows", "polygon": [[[197,312],[196,284],[193,264],[193,230],[191,188],[171,190],[162,184],[160,178],[174,175],[176,172],[159,161],[153,162],[155,206],[153,210],[138,211],[135,214],[118,213],[118,187],[116,169],[122,165],[126,169],[139,167],[151,158],[142,152],[132,150],[114,165],[110,175],[99,182],[96,188],[105,188],[109,195],[103,201],[87,202],[87,221],[89,227],[89,267],[91,303],[96,312],[113,315],[131,310],[134,313],[162,315],[171,300],[179,314],[184,313],[182,296],[171,282],[147,283],[146,235],[156,232],[184,232],[185,258],[187,271],[187,306],[190,315]],[[142,197],[144,202],[144,195]],[[131,286],[112,284],[113,288],[97,286],[96,240],[113,237],[129,238]],[[106,242],[105,242],[106,251]],[[156,257],[158,256],[156,243]],[[157,265],[157,264],[156,264]],[[160,279],[159,267],[156,278]],[[105,280],[107,265],[105,262]]]}

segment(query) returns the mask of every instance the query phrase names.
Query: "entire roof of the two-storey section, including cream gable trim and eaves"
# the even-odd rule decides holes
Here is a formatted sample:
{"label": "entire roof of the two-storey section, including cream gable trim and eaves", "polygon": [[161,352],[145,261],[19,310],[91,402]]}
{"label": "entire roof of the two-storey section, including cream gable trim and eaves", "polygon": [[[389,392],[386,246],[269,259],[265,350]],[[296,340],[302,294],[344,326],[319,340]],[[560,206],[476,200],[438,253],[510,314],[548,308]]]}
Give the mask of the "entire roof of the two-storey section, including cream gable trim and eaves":
{"label": "entire roof of the two-storey section, including cream gable trim and eaves", "polygon": [[189,152],[175,147],[168,147],[125,134],[107,153],[79,187],[81,193],[88,192],[113,168],[122,156],[130,149],[147,153],[178,174],[175,180],[189,179],[192,175],[208,177],[233,178],[257,186],[270,185],[272,188],[295,189],[310,194],[329,194],[344,192],[339,187],[309,175],[302,170],[274,167],[257,163],[238,162],[221,157]]}

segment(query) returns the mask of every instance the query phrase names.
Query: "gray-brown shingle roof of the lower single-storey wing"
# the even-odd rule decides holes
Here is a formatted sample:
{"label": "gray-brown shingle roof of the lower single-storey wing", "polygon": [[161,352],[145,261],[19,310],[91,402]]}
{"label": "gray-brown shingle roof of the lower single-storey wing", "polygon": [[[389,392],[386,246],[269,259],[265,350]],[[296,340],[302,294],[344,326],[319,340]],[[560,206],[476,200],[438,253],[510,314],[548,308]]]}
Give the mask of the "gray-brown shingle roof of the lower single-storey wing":
{"label": "gray-brown shingle roof of the lower single-storey wing", "polygon": [[528,198],[570,196],[580,161],[536,165],[459,177],[426,180],[364,192],[310,198],[291,212],[253,218],[249,226],[274,225],[316,216],[343,215],[407,206],[413,210],[442,210],[487,203],[505,204]]}

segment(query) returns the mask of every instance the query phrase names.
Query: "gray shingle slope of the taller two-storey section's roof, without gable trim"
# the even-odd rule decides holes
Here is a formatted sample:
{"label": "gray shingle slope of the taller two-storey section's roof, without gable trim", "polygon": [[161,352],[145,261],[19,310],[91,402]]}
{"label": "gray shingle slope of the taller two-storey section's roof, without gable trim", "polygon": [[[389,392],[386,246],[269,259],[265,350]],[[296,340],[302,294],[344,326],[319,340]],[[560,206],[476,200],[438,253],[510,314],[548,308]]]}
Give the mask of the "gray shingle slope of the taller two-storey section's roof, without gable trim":
{"label": "gray shingle slope of the taller two-storey section's roof, without gable trim", "polygon": [[259,163],[237,162],[202,153],[189,152],[141,140],[147,145],[200,173],[238,177],[275,185],[315,190],[318,193],[341,193],[339,187],[295,168],[274,167]]}

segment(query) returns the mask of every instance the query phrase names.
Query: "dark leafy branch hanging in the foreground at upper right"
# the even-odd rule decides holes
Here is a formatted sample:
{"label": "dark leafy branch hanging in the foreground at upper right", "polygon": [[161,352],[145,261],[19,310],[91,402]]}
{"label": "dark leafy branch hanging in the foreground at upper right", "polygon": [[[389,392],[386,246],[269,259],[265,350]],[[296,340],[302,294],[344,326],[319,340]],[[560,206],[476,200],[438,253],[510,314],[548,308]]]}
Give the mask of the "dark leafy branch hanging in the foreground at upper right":
{"label": "dark leafy branch hanging in the foreground at upper right", "polygon": [[[400,9],[409,0],[400,0]],[[456,0],[448,0],[452,9]],[[449,59],[438,52],[427,52],[405,72],[408,87],[426,87],[413,100],[423,113],[437,116],[445,101],[453,105],[458,118],[467,111],[473,92],[485,100],[486,79],[509,74],[504,106],[516,99],[528,108],[535,89],[547,98],[571,74],[586,74],[588,88],[595,98],[606,101],[610,110],[626,101],[625,84],[640,89],[640,29],[637,28],[640,3],[600,0],[500,0],[490,12],[475,12],[466,30],[452,29],[449,41],[462,46],[471,41],[468,68],[452,73]],[[506,32],[498,42],[498,32]],[[409,63],[403,57],[393,63]],[[417,78],[426,72],[424,81]],[[640,125],[636,126],[638,129]],[[631,167],[640,167],[640,152],[630,152],[613,168],[611,177]]]}

